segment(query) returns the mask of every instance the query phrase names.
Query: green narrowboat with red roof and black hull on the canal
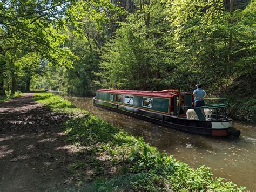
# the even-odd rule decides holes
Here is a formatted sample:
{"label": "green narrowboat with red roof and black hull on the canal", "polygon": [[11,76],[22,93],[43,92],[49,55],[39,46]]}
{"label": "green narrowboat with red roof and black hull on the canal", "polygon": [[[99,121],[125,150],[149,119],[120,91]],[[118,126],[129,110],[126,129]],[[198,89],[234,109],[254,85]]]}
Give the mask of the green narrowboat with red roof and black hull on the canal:
{"label": "green narrowboat with red roof and black hull on the canal", "polygon": [[[226,115],[228,99],[219,100],[224,103],[206,103],[205,106],[194,107],[193,95],[178,90],[100,89],[96,91],[93,103],[98,107],[184,132],[210,136],[239,136],[240,131],[233,127],[233,120]],[[212,114],[209,118],[204,116],[202,108],[211,109]],[[194,109],[196,119],[187,119],[188,109]]]}

